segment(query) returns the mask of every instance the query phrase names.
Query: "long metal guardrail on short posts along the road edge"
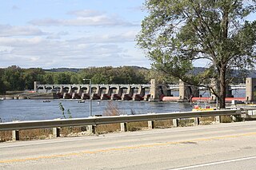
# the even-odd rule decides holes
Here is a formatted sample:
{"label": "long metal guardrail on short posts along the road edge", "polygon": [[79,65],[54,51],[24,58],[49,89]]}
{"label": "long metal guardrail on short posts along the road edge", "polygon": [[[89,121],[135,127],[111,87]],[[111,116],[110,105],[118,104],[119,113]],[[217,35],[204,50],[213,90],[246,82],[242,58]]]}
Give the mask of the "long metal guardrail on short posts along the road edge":
{"label": "long metal guardrail on short posts along the road edge", "polygon": [[106,125],[120,123],[121,130],[126,131],[128,122],[148,121],[149,128],[154,128],[154,121],[172,119],[174,126],[178,126],[180,118],[195,118],[195,124],[199,124],[198,117],[217,117],[228,115],[241,115],[241,109],[226,109],[212,111],[197,111],[197,112],[180,112],[180,113],[148,113],[141,115],[121,115],[111,117],[86,117],[74,119],[57,119],[46,121],[13,121],[0,123],[0,131],[13,131],[13,140],[18,140],[18,130],[34,129],[34,128],[54,128],[54,136],[59,136],[59,127],[67,126],[85,126],[89,125],[91,132],[94,132],[95,125]]}

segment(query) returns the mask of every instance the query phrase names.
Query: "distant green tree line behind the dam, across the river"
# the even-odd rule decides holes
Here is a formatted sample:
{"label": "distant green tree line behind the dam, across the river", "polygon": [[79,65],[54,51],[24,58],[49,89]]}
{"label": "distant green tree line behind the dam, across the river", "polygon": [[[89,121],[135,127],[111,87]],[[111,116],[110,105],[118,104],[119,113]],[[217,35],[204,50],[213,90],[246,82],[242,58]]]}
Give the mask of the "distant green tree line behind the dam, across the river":
{"label": "distant green tree line behind the dam, across the river", "polygon": [[151,78],[159,82],[170,81],[153,69],[134,66],[90,67],[78,71],[44,70],[42,68],[22,69],[17,65],[0,69],[0,93],[34,89],[34,81],[42,84],[85,84],[83,79],[91,79],[94,84],[146,84]]}

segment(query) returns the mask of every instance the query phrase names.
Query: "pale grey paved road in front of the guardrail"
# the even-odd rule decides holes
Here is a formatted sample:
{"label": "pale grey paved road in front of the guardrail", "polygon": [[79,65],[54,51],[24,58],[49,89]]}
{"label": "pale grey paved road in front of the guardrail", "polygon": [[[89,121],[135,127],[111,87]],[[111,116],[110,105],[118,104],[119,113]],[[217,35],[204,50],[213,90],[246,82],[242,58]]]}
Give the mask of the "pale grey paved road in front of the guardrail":
{"label": "pale grey paved road in front of the guardrail", "polygon": [[256,121],[0,143],[0,169],[255,169]]}

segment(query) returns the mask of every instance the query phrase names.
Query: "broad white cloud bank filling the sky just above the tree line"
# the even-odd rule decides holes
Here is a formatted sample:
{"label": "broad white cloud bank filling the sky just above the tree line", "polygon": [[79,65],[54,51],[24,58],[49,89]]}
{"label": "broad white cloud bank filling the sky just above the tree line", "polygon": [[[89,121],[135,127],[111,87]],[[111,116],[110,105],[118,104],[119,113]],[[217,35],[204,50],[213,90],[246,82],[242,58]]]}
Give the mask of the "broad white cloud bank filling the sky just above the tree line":
{"label": "broad white cloud bank filling the sky just above the tree line", "polygon": [[81,42],[79,39],[67,41],[38,37],[0,38],[0,47],[0,67],[18,65],[22,68],[85,68],[104,65],[149,65],[141,53],[127,49],[126,42],[93,42],[93,38],[90,43]]}

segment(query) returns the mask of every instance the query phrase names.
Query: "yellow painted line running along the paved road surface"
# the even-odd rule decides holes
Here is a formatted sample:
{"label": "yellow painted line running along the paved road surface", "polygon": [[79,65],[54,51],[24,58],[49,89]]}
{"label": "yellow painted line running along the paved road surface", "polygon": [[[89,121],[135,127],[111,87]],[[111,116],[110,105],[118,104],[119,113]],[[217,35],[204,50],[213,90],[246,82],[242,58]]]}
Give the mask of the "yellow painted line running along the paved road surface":
{"label": "yellow painted line running along the paved road surface", "polygon": [[182,141],[154,143],[154,144],[141,144],[141,145],[137,145],[137,146],[128,146],[128,147],[122,147],[122,148],[106,148],[106,149],[100,149],[100,150],[95,150],[95,151],[72,152],[72,153],[58,154],[58,155],[51,155],[51,156],[29,157],[29,158],[24,158],[24,159],[0,160],[0,164],[14,163],[14,162],[25,162],[25,161],[30,161],[30,160],[45,160],[45,159],[59,158],[59,157],[66,157],[66,156],[81,156],[83,154],[95,154],[95,153],[99,153],[99,152],[123,151],[123,150],[137,149],[137,148],[152,148],[152,147],[164,146],[164,145],[168,145],[168,144],[184,144],[184,143],[189,143],[189,142],[191,143],[191,142],[196,142],[196,141],[221,140],[221,139],[226,139],[226,138],[234,138],[234,137],[241,137],[241,136],[254,136],[254,135],[256,135],[256,132],[249,132],[249,133],[243,133],[243,134],[239,134],[239,135],[230,135],[230,136],[198,138],[198,139],[194,139],[194,140],[182,140]]}

